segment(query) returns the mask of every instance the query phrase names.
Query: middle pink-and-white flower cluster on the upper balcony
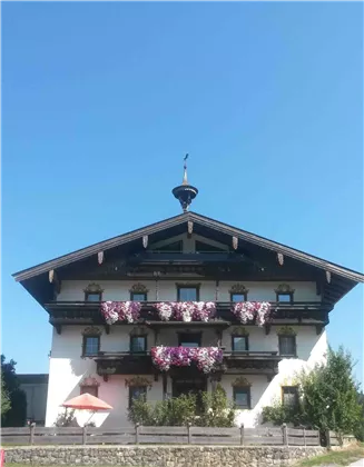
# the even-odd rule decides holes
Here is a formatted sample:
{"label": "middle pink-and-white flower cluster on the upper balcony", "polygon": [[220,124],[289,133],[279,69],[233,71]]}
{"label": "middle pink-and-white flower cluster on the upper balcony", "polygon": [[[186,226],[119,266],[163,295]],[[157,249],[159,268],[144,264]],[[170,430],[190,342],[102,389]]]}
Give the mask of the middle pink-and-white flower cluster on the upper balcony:
{"label": "middle pink-and-white flower cluster on the upper balcony", "polygon": [[159,318],[163,321],[208,321],[216,315],[214,301],[163,301],[156,304]]}

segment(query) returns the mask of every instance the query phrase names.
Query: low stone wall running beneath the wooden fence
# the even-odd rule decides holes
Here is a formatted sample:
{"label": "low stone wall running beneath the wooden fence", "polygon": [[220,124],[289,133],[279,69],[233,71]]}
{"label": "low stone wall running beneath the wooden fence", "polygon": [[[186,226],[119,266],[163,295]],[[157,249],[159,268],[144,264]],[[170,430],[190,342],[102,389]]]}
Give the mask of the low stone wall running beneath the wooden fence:
{"label": "low stone wall running beneath the wooden fence", "polygon": [[322,454],[321,447],[218,446],[85,446],[7,448],[6,461],[52,465],[119,465],[124,467],[269,467],[291,466]]}

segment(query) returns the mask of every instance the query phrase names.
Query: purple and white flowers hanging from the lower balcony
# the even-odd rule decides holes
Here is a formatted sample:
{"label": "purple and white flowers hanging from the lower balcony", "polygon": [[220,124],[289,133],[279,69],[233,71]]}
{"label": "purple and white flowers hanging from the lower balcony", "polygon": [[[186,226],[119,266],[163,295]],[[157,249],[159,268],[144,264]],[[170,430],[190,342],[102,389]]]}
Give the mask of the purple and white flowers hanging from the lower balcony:
{"label": "purple and white flowers hanging from the lower balcony", "polygon": [[211,372],[223,361],[223,350],[218,347],[153,347],[151,360],[161,371],[171,366],[189,367],[191,362],[204,372]]}

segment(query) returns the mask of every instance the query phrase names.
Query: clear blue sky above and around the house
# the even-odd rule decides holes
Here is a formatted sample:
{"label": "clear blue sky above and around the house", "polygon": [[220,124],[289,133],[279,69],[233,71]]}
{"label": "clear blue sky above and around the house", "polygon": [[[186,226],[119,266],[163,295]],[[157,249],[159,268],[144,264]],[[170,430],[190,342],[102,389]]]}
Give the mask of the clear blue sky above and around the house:
{"label": "clear blue sky above and around the house", "polygon": [[[361,2],[3,2],[2,351],[47,372],[11,274],[193,209],[363,271]],[[363,287],[328,336],[363,364]],[[361,377],[361,368],[357,367]]]}

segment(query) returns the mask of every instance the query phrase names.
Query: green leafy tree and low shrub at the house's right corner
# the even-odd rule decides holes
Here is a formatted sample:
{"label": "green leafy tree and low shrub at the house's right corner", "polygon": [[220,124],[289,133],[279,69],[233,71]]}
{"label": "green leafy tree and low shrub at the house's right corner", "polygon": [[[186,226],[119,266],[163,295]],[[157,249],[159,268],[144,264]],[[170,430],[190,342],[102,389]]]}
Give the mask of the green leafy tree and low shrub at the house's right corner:
{"label": "green leafy tree and low shrub at the house's right corner", "polygon": [[353,359],[342,347],[328,349],[326,365],[317,365],[298,377],[299,405],[289,410],[282,405],[265,407],[264,421],[281,425],[283,421],[336,431],[340,439],[345,434],[357,433],[363,416],[358,403],[357,385],[353,378]]}

